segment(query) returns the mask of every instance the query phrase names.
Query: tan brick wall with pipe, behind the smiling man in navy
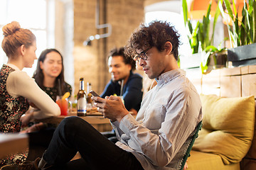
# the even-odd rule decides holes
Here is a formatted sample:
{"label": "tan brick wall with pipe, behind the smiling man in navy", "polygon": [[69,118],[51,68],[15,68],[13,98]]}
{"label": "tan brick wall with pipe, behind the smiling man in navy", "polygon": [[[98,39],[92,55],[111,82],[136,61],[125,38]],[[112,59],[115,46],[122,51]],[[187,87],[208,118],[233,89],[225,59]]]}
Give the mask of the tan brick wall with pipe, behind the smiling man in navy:
{"label": "tan brick wall with pipe, behind the smiling man in navy", "polygon": [[74,69],[75,89],[78,92],[79,79],[90,81],[92,89],[101,93],[110,80],[107,67],[107,52],[113,47],[126,44],[131,33],[144,21],[143,0],[100,0],[99,23],[110,23],[112,35],[100,40],[92,40],[91,45],[82,45],[90,35],[107,33],[107,29],[97,30],[95,8],[97,0],[74,0]]}

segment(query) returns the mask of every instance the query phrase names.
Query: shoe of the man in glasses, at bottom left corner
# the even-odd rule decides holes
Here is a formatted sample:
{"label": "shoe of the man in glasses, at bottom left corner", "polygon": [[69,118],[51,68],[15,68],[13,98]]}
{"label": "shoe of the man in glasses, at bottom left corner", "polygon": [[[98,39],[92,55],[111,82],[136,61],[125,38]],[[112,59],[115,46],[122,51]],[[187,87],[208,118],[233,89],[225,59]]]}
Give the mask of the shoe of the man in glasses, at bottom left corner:
{"label": "shoe of the man in glasses, at bottom left corner", "polygon": [[23,162],[22,164],[13,164],[6,165],[1,167],[1,170],[39,170],[38,163],[40,162],[40,158],[37,158],[33,162]]}

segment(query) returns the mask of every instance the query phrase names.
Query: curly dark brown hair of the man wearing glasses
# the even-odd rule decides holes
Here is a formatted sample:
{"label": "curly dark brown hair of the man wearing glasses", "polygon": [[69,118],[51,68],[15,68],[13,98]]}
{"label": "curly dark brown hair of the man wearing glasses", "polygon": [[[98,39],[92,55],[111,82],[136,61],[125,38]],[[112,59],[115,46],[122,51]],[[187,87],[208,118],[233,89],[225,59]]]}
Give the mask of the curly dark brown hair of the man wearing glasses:
{"label": "curly dark brown hair of the man wearing glasses", "polygon": [[149,26],[141,24],[138,30],[132,33],[124,53],[129,57],[136,55],[135,50],[145,50],[156,47],[159,51],[164,51],[165,42],[172,44],[171,54],[178,60],[178,45],[181,44],[180,35],[174,26],[166,21],[152,21]]}

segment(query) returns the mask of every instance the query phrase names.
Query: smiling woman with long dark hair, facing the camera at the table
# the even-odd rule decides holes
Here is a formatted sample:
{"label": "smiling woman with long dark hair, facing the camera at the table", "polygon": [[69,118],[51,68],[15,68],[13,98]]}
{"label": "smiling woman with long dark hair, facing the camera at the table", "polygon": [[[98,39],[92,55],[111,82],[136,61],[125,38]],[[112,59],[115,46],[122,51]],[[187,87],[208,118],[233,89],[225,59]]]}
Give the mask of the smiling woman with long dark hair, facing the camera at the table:
{"label": "smiling woman with long dark hair, facing the camera at the table", "polygon": [[64,79],[63,56],[53,48],[41,52],[33,78],[38,86],[53,98],[53,101],[56,101],[56,96],[60,95],[59,87],[61,96],[65,92],[72,93],[72,87]]}

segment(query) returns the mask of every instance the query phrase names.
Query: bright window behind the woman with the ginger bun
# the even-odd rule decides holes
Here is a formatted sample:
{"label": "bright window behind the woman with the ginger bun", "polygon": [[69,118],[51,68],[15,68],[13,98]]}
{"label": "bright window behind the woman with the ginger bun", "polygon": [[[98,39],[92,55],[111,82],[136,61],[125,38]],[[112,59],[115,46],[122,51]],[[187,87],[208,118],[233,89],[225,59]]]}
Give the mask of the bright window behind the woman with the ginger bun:
{"label": "bright window behind the woman with the ginger bun", "polygon": [[[54,0],[1,0],[0,1],[0,42],[3,40],[2,27],[11,21],[18,21],[21,28],[27,28],[36,35],[36,56],[39,57],[42,50],[54,47]],[[6,63],[6,57],[2,48],[0,49],[0,64]],[[37,60],[32,68],[24,68],[32,77],[36,69]]]}

